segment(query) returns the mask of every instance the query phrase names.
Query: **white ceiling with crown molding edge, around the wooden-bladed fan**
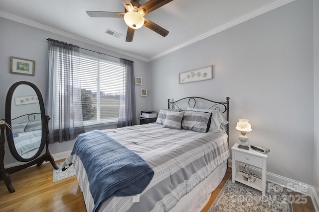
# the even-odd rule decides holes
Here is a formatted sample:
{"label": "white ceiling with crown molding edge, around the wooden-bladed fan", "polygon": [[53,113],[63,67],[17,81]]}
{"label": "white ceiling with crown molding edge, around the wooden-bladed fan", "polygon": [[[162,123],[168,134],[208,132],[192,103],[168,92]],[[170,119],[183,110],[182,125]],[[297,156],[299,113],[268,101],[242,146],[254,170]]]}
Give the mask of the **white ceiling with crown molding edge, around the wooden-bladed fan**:
{"label": "white ceiling with crown molding edge, around the wooden-bladed fan", "polygon": [[[0,17],[152,61],[291,1],[173,0],[145,16],[168,30],[168,35],[162,37],[143,26],[135,30],[133,42],[125,41],[123,18],[92,18],[85,12],[124,12],[121,0],[0,0]],[[123,36],[104,33],[107,28]]]}

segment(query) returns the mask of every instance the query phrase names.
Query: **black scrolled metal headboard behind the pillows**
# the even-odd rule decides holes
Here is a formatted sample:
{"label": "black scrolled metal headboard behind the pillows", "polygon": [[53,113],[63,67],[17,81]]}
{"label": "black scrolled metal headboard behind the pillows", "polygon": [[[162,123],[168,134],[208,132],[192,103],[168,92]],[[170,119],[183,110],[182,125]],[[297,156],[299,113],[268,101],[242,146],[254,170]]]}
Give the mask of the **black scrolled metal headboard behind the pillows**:
{"label": "black scrolled metal headboard behind the pillows", "polygon": [[[220,113],[226,113],[226,119],[228,121],[228,124],[227,124],[227,127],[226,127],[226,133],[227,133],[227,136],[228,136],[227,143],[228,143],[228,146],[229,146],[229,97],[226,97],[226,102],[217,102],[217,101],[213,101],[213,100],[210,100],[210,99],[206,99],[206,98],[203,98],[203,97],[197,97],[197,96],[185,97],[185,98],[178,99],[177,101],[173,101],[173,102],[170,102],[169,99],[167,99],[167,101],[168,101],[167,108],[168,109],[174,109],[175,107],[180,108],[180,107],[178,107],[178,105],[176,103],[177,102],[180,103],[180,101],[184,100],[184,99],[188,99],[188,106],[191,106],[190,102],[191,102],[191,100],[193,100],[194,105],[192,105],[191,107],[195,107],[196,99],[202,99],[202,100],[205,100],[207,102],[211,102],[212,106],[210,106],[207,109],[218,110]],[[228,167],[228,164],[227,164],[227,167]]]}

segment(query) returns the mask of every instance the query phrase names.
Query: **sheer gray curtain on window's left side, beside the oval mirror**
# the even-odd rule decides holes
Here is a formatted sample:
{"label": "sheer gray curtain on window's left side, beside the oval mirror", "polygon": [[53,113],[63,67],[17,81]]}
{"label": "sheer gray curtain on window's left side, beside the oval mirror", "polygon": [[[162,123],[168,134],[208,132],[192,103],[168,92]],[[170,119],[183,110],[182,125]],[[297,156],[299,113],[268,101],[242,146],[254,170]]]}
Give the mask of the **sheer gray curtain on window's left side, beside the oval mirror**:
{"label": "sheer gray curtain on window's left side, beside the oval mirror", "polygon": [[70,141],[84,133],[79,47],[48,39],[45,111],[50,143]]}

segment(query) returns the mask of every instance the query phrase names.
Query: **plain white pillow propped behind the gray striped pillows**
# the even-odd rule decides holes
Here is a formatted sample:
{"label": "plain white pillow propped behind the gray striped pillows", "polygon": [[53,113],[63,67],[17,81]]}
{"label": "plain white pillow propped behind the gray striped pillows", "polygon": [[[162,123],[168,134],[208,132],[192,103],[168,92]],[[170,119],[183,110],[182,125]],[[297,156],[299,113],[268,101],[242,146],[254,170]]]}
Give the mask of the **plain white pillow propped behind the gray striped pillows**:
{"label": "plain white pillow propped behind the gray striped pillows", "polygon": [[226,131],[226,125],[228,124],[228,121],[224,119],[223,115],[219,111],[213,109],[196,109],[192,107],[187,107],[187,110],[212,113],[210,127],[208,131]]}

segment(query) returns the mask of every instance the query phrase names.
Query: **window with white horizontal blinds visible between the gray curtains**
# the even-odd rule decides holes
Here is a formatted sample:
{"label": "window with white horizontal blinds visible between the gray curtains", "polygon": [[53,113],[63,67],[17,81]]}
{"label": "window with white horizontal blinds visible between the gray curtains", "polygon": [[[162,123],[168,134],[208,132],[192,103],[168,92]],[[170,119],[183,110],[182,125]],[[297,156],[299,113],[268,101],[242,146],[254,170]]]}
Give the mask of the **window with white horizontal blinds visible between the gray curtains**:
{"label": "window with white horizontal blinds visible between the gray curtains", "polygon": [[126,70],[120,63],[80,55],[81,101],[84,126],[117,123]]}

